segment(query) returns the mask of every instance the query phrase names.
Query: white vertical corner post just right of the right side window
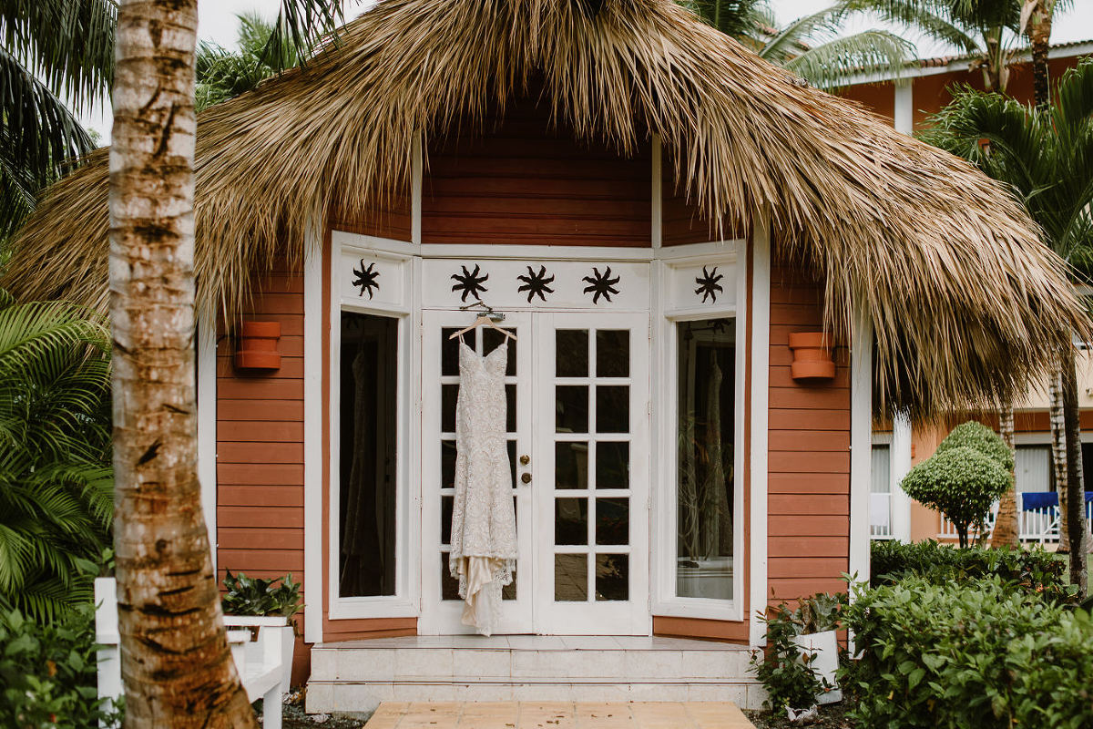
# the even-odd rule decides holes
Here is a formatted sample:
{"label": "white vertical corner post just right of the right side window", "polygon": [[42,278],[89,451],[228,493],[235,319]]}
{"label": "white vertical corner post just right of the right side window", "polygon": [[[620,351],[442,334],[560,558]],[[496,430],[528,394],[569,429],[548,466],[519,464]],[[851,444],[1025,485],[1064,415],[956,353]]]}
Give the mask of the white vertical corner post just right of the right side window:
{"label": "white vertical corner post just right of the right side window", "polygon": [[[768,392],[771,379],[771,228],[766,211],[756,213],[752,236],[752,309],[751,309],[751,645],[766,644],[766,623],[760,614],[766,612],[767,566],[767,443]],[[868,484],[867,484],[868,489]],[[868,531],[866,532],[868,537]]]}

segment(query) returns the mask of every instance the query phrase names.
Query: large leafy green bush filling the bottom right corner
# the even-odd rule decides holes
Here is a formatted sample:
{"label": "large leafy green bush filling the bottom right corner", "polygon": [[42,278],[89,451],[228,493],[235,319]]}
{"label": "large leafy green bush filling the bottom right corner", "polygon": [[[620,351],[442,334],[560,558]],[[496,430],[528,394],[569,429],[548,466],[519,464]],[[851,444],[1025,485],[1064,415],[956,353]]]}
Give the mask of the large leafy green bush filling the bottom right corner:
{"label": "large leafy green bush filling the bottom right corner", "polygon": [[997,577],[856,589],[860,657],[839,672],[863,727],[1093,726],[1093,621]]}

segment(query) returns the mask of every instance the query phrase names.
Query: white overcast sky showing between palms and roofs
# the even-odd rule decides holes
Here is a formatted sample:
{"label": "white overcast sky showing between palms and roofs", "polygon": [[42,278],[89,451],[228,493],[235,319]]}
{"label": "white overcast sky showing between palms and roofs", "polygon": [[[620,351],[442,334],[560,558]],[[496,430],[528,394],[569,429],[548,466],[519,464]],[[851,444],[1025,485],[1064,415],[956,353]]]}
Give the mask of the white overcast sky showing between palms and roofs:
{"label": "white overcast sky showing between palms and roofs", "polygon": [[[362,9],[373,4],[374,0],[343,0],[346,19],[359,14]],[[816,12],[831,4],[831,0],[771,0],[779,24]],[[1093,1],[1076,0],[1074,9],[1057,17],[1051,35],[1053,43],[1071,43],[1074,40],[1093,39]],[[274,17],[280,0],[199,0],[198,1],[198,35],[203,40],[212,40],[224,47],[235,45],[237,13],[257,10]],[[847,26],[848,32],[875,27],[875,23],[859,19]],[[897,30],[897,28],[895,28]],[[909,37],[909,36],[908,36]],[[918,40],[909,37],[910,40]],[[919,56],[929,58],[950,52],[950,49],[932,43],[919,43]],[[107,105],[93,109],[83,119],[84,124],[102,134],[103,142],[109,142],[111,116]]]}

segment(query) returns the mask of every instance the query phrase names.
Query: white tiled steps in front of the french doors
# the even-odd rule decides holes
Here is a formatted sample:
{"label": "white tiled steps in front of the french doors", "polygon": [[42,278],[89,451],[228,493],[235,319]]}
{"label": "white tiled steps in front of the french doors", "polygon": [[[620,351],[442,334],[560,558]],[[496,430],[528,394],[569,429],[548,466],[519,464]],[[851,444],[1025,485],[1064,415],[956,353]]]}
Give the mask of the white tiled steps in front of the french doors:
{"label": "white tiled steps in front of the french doors", "polygon": [[[381,702],[733,702],[764,695],[749,650],[630,636],[412,636],[316,645],[308,712]],[[628,725],[627,725],[628,726]]]}

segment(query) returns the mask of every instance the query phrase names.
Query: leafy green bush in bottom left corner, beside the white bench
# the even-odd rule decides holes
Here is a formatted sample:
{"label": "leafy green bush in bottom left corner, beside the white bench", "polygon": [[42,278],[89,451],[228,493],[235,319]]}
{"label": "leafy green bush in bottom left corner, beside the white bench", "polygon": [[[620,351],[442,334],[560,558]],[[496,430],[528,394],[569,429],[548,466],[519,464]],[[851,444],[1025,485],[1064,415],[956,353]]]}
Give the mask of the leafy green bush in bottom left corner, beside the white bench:
{"label": "leafy green bush in bottom left corner, beside the white bench", "polygon": [[51,624],[0,612],[0,726],[87,729],[120,713],[98,698],[95,610],[82,603]]}

